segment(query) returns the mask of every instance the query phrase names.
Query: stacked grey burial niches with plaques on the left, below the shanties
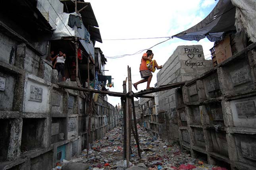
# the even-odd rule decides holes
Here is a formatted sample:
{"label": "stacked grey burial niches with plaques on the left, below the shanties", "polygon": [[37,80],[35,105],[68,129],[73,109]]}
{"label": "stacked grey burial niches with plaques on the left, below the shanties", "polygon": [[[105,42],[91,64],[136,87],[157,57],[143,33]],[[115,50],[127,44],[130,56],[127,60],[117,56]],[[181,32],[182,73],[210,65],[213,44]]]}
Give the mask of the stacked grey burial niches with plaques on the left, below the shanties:
{"label": "stacked grey burial niches with plaques on the left, below the shanties", "polygon": [[[88,101],[60,88],[58,72],[30,46],[0,36],[0,169],[51,169],[86,147]],[[90,142],[117,126],[119,116],[102,97],[95,106]]]}

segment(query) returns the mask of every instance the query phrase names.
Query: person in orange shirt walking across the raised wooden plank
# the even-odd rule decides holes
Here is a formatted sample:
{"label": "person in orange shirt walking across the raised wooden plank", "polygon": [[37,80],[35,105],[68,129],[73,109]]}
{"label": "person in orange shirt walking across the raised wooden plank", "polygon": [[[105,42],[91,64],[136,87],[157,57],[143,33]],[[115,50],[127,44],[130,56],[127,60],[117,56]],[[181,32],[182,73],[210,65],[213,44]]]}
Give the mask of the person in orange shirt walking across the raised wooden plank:
{"label": "person in orange shirt walking across the raised wooden plank", "polygon": [[152,73],[148,70],[148,67],[146,66],[146,61],[147,60],[149,60],[150,62],[152,61],[152,59],[149,57],[151,55],[153,55],[152,50],[147,50],[146,53],[144,53],[142,55],[141,65],[140,65],[140,73],[141,73],[141,78],[143,78],[143,79],[133,84],[133,86],[136,90],[138,90],[137,89],[138,84],[141,84],[141,83],[144,83],[144,82],[147,82],[146,89],[152,88],[152,87],[150,87],[150,82],[151,82],[151,79],[152,79]]}

